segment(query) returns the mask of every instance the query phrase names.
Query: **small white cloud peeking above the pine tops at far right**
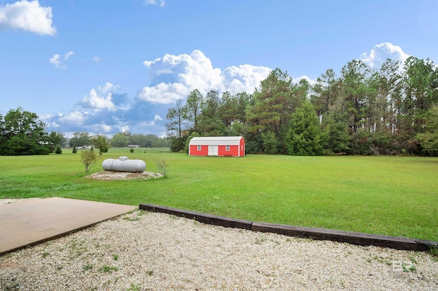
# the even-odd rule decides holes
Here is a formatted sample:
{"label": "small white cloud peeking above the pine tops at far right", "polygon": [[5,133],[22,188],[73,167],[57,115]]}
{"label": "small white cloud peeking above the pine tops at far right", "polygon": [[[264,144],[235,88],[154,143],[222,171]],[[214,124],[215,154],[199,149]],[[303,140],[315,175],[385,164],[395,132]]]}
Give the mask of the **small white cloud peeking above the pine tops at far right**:
{"label": "small white cloud peeking above the pine tops at far right", "polygon": [[365,64],[368,64],[368,66],[379,69],[387,59],[403,63],[408,57],[409,55],[404,53],[400,46],[395,46],[389,42],[383,42],[373,46],[371,51],[363,53],[360,59]]}

